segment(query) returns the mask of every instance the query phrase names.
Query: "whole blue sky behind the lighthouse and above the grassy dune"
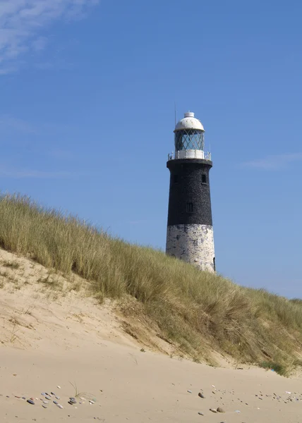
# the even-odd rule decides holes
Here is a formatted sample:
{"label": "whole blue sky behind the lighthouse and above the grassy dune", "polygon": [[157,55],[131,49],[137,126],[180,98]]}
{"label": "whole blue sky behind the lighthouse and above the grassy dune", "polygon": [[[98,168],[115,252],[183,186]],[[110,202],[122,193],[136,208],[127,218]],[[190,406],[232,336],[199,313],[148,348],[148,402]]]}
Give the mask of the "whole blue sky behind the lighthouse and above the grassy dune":
{"label": "whole blue sky behind the lighthouse and above the grassy dune", "polygon": [[0,0],[0,180],[164,249],[177,117],[211,146],[219,272],[301,297],[302,3]]}

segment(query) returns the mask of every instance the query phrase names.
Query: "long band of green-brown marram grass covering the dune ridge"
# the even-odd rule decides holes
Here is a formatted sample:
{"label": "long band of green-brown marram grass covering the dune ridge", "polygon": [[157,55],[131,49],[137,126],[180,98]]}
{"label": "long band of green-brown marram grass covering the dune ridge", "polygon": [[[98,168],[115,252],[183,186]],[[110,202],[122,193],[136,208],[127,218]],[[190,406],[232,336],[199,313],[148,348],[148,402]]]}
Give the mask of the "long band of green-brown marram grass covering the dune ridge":
{"label": "long band of green-brown marram grass covering the dune ridge", "polygon": [[282,373],[300,360],[298,300],[237,286],[18,195],[0,198],[0,245],[82,276],[99,298],[129,300],[123,312],[139,310],[194,360],[211,360],[217,351],[241,362],[278,364]]}

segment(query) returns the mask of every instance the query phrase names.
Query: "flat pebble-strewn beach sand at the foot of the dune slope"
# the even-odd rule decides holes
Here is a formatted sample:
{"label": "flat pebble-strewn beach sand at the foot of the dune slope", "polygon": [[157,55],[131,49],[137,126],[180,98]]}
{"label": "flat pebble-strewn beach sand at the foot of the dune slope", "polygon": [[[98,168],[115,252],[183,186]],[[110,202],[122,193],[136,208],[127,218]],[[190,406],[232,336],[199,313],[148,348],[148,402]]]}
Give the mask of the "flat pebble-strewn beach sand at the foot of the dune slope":
{"label": "flat pebble-strewn beach sand at the foot of the dune slope", "polygon": [[[6,422],[301,422],[301,379],[212,368],[110,341],[54,346],[49,353],[1,348],[0,372]],[[68,404],[75,396],[71,383],[78,388],[74,405]],[[54,396],[43,408],[45,392],[64,408]],[[35,405],[18,396],[34,398]],[[210,411],[217,407],[225,413]]]}

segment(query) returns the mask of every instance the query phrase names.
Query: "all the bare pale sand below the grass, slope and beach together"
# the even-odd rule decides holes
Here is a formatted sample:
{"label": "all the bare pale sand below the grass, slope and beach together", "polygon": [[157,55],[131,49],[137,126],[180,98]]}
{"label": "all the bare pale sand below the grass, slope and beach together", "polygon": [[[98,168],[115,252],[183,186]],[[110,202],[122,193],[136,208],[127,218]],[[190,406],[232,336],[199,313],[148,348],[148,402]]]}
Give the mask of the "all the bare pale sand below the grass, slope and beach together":
{"label": "all the bare pale sand below the grass, slope and beach together", "polygon": [[[298,376],[144,352],[112,305],[85,298],[76,279],[57,276],[49,288],[42,266],[8,252],[1,260],[1,422],[301,422]],[[42,393],[59,399],[44,408]]]}

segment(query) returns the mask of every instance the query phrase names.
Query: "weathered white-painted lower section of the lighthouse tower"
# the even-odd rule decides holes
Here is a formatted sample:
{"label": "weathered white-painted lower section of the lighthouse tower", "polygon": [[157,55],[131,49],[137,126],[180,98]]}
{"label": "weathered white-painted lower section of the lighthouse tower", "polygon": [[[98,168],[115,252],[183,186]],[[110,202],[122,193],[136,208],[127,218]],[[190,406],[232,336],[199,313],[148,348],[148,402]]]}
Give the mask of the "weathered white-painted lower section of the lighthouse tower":
{"label": "weathered white-painted lower section of the lighthouse tower", "polygon": [[197,224],[168,226],[166,252],[200,270],[215,272],[213,227]]}

